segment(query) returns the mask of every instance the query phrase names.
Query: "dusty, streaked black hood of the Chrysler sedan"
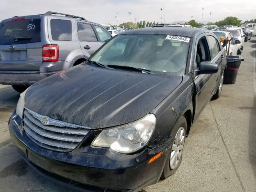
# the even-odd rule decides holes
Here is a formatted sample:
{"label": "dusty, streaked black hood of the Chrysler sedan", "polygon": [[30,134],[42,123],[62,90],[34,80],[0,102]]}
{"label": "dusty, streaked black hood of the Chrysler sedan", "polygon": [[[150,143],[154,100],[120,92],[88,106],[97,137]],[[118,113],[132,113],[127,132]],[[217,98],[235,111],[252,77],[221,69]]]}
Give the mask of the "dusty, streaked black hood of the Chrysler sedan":
{"label": "dusty, streaked black hood of the Chrysler sedan", "polygon": [[182,76],[80,64],[31,86],[25,107],[56,120],[107,128],[142,118],[181,81]]}

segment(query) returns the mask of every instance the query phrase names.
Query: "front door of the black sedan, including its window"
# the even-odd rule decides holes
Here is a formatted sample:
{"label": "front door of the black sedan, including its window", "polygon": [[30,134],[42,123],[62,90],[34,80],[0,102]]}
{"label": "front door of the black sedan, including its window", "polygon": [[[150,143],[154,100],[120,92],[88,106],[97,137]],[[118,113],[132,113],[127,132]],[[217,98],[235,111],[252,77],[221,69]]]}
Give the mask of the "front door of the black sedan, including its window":
{"label": "front door of the black sedan, including its window", "polygon": [[[198,36],[196,40],[194,58],[194,69],[199,69],[200,62],[211,61],[210,46],[205,35]],[[215,62],[215,60],[212,60]],[[216,86],[215,74],[200,74],[194,76],[194,85],[196,88],[196,111],[195,119],[198,118],[206,104],[214,94]]]}

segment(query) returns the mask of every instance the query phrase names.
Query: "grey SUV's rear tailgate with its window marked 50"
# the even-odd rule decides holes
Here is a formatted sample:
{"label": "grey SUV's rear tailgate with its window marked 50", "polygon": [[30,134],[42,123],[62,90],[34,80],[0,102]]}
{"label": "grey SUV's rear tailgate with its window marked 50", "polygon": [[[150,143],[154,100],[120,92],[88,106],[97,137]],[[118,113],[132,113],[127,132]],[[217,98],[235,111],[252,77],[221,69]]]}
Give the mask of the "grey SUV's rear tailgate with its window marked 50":
{"label": "grey SUV's rear tailgate with its window marked 50", "polygon": [[[38,70],[42,64],[44,20],[14,17],[0,23],[0,70]],[[45,38],[44,38],[45,39]]]}

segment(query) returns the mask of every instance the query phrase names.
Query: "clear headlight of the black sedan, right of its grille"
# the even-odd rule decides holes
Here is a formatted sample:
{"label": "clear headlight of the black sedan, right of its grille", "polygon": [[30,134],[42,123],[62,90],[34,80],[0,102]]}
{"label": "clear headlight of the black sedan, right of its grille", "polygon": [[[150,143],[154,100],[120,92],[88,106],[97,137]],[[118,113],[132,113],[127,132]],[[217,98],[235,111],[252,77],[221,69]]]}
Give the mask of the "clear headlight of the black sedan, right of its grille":
{"label": "clear headlight of the black sedan, right of its grille", "polygon": [[102,130],[92,142],[92,146],[110,147],[120,153],[135,152],[148,143],[156,125],[156,116],[148,114],[144,118],[118,128]]}

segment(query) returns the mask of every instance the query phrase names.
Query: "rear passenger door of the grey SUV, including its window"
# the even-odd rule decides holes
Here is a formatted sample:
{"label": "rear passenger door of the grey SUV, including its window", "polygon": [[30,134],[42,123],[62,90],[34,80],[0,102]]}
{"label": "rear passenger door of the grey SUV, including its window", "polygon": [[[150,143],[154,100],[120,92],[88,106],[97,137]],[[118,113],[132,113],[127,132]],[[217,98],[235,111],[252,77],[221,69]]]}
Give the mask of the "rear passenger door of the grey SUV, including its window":
{"label": "rear passenger door of the grey SUV, including its window", "polygon": [[102,45],[91,24],[86,22],[77,22],[77,36],[81,50],[86,58],[89,58]]}

